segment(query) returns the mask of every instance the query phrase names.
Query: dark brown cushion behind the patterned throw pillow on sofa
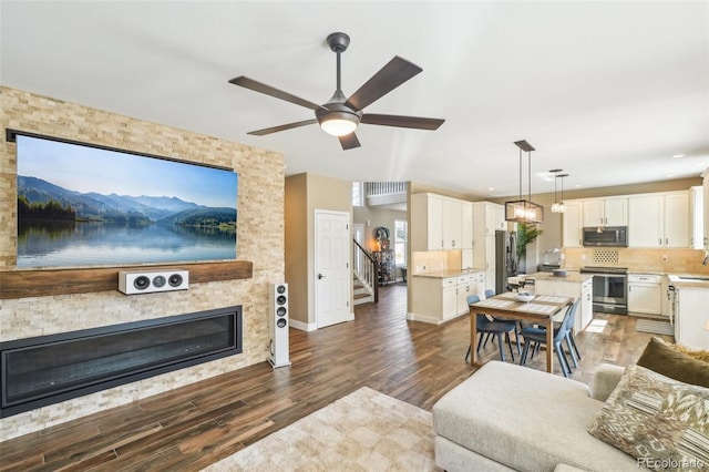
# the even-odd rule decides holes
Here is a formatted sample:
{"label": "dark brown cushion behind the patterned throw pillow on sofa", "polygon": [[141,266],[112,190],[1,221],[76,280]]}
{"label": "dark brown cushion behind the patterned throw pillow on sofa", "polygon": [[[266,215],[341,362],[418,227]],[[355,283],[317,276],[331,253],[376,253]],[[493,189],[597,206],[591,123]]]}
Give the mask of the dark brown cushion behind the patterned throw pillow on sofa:
{"label": "dark brown cushion behind the patterned throw pillow on sofa", "polygon": [[637,365],[680,382],[709,387],[709,363],[678,351],[660,338],[650,339]]}

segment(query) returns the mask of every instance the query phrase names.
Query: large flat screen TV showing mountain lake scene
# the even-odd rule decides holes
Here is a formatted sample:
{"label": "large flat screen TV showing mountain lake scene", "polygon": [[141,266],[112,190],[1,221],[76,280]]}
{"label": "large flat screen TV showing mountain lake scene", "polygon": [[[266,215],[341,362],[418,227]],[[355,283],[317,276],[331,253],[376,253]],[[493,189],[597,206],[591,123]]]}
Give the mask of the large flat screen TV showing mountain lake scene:
{"label": "large flat screen TV showing mountain lake scene", "polygon": [[232,170],[7,135],[17,143],[18,267],[236,259]]}

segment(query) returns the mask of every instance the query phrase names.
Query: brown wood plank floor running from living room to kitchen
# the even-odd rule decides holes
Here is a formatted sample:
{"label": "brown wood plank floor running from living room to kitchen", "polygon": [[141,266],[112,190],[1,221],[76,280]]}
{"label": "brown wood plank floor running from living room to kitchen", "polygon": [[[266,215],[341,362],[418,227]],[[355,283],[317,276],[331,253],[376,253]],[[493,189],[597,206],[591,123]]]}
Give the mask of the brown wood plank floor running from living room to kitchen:
{"label": "brown wood plank floor running from living room to kitchen", "polygon": [[[363,386],[431,410],[474,371],[463,360],[469,319],[407,321],[405,297],[405,286],[382,287],[352,322],[291,330],[291,367],[261,362],[0,443],[0,471],[197,471]],[[653,336],[635,322],[596,315],[576,337],[574,378],[588,383],[599,362],[635,362]],[[496,345],[481,356],[496,359]],[[544,355],[531,367],[544,370]]]}

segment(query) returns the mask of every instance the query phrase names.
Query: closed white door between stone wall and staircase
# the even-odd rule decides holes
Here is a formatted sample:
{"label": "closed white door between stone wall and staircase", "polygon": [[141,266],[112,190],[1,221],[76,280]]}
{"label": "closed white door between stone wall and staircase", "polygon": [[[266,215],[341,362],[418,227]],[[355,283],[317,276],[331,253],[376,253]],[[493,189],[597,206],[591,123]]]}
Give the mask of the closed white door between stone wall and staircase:
{"label": "closed white door between stone wall and staircase", "polygon": [[349,321],[350,215],[315,211],[315,318],[318,328]]}

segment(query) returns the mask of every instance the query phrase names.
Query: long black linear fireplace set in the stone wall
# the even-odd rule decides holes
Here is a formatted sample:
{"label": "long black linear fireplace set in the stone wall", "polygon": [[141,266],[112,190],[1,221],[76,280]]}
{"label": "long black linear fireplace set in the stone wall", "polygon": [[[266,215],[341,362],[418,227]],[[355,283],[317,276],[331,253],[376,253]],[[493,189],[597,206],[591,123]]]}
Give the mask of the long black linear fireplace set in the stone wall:
{"label": "long black linear fireplace set in the stone wall", "polygon": [[242,349],[242,306],[0,342],[0,418]]}

